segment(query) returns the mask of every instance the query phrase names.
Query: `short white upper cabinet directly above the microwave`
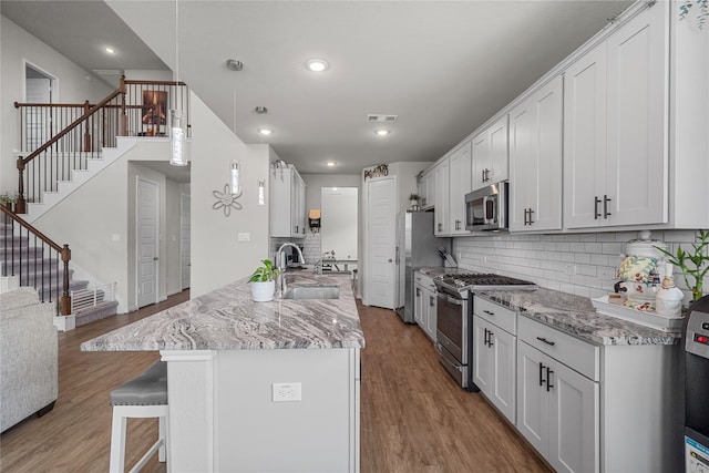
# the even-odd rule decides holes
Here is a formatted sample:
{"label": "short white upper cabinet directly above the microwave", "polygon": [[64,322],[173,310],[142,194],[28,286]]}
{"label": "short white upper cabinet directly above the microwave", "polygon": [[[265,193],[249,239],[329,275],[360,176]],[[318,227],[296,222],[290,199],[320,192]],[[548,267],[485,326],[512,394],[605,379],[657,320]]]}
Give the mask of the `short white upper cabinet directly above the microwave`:
{"label": "short white upper cabinet directly above the microwave", "polygon": [[472,140],[472,191],[506,181],[508,177],[507,115],[476,134]]}

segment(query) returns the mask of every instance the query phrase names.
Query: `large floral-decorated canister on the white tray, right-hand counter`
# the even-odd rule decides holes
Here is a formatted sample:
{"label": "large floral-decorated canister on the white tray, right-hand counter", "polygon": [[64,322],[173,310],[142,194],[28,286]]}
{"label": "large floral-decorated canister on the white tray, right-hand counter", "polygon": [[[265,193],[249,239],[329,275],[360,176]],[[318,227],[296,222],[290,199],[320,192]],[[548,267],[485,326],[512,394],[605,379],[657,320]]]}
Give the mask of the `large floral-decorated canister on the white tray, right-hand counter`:
{"label": "large floral-decorated canister on the white tray, right-hand counter", "polygon": [[640,238],[628,241],[616,277],[616,292],[625,292],[628,301],[645,304],[655,301],[655,292],[665,275],[664,255],[656,247],[667,248],[662,241],[650,238],[649,232],[640,232]]}

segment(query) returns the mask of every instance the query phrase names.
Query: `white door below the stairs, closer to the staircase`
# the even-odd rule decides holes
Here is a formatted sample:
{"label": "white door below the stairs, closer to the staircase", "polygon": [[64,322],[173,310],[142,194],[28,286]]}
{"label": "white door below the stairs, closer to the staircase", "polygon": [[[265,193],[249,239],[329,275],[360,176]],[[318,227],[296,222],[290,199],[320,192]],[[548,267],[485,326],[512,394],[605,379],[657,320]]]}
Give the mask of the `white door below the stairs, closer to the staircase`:
{"label": "white door below the stairs, closer to the staircase", "polygon": [[157,302],[157,184],[137,179],[137,307]]}

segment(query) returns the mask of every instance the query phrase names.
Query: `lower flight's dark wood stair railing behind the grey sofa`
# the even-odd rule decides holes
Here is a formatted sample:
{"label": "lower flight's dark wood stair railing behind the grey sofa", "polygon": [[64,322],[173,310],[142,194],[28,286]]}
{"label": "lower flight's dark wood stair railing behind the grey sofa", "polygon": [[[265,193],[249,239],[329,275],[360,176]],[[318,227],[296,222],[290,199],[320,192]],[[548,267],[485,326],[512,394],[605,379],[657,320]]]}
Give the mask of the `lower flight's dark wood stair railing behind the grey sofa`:
{"label": "lower flight's dark wood stair railing behind the grey sofa", "polygon": [[42,302],[56,301],[59,313],[69,316],[69,245],[55,244],[6,206],[0,206],[0,216],[3,224],[0,230],[1,275],[17,276],[21,286],[34,286]]}

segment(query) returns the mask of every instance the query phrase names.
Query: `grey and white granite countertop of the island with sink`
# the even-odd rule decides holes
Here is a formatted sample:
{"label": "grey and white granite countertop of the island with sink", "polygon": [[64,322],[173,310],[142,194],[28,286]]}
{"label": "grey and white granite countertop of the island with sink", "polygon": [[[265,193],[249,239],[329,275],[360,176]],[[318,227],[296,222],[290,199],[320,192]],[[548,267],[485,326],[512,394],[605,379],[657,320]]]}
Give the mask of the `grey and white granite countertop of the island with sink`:
{"label": "grey and white granite countertop of the island with sink", "polygon": [[254,302],[248,278],[81,345],[82,351],[363,348],[348,275],[294,271],[289,287],[338,285],[339,299]]}

